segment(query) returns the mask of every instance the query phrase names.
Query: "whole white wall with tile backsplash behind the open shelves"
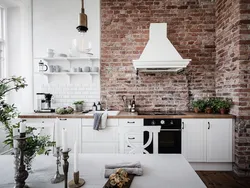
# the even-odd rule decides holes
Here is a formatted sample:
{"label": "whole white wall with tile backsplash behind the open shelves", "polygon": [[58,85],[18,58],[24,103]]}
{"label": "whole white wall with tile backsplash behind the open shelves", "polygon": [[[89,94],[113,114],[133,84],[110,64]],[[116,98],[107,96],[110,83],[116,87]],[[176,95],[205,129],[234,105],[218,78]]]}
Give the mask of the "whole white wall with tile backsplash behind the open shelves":
{"label": "whole white wall with tile backsplash behind the open shelves", "polygon": [[[85,35],[86,44],[91,42],[94,56],[100,57],[100,0],[84,2],[89,29]],[[33,0],[34,72],[38,71],[39,58],[47,56],[47,48],[54,49],[56,55],[68,54],[72,40],[79,37],[76,27],[80,9],[81,0]],[[94,66],[99,64],[100,61],[94,62]],[[54,65],[68,67],[65,62],[54,62]],[[76,62],[74,66],[91,66],[91,63]],[[72,76],[71,82],[66,75],[49,76],[47,80],[47,77],[35,74],[34,78],[34,96],[38,92],[52,93],[55,99],[53,108],[73,106],[74,101],[84,100],[85,109],[89,109],[93,102],[100,100],[100,76]]]}

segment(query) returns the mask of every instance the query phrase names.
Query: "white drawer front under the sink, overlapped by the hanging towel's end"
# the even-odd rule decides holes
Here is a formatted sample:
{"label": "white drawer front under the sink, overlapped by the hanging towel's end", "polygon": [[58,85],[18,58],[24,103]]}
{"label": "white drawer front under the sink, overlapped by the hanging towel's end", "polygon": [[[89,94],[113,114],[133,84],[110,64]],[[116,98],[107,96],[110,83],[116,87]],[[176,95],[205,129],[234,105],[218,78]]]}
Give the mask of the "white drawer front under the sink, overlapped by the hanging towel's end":
{"label": "white drawer front under the sink, overlapped by the hanging towel's end", "polygon": [[82,141],[88,142],[103,142],[103,141],[118,141],[118,128],[106,127],[105,129],[96,131],[92,127],[82,126]]}

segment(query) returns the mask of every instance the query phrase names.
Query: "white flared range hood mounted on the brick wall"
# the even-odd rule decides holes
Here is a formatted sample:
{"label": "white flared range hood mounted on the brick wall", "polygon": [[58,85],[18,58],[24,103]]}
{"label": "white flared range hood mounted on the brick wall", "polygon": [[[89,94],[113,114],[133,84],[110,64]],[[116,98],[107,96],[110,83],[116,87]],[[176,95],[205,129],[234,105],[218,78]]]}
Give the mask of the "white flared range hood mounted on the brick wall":
{"label": "white flared range hood mounted on the brick wall", "polygon": [[133,65],[140,72],[178,72],[191,59],[183,59],[167,38],[167,23],[151,23],[149,41]]}

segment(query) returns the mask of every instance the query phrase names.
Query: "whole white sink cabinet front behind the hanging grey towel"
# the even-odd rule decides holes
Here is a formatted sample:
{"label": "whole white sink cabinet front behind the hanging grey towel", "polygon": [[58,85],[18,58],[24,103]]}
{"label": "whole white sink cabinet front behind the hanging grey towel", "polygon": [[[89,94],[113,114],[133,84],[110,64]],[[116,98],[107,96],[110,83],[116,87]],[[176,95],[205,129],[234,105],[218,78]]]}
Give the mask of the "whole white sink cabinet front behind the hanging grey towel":
{"label": "whole white sink cabinet front behind the hanging grey towel", "polygon": [[82,119],[80,138],[82,153],[118,153],[118,119],[107,119],[105,129],[93,129],[94,119]]}

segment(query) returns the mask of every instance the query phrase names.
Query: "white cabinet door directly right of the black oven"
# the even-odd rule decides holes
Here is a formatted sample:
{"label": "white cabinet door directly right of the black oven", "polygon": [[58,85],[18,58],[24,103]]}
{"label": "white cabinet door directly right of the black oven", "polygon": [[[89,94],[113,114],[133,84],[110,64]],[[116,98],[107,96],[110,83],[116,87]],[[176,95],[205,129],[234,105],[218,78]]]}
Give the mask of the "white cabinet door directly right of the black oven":
{"label": "white cabinet door directly right of the black oven", "polygon": [[189,162],[206,161],[204,119],[182,119],[182,154]]}

